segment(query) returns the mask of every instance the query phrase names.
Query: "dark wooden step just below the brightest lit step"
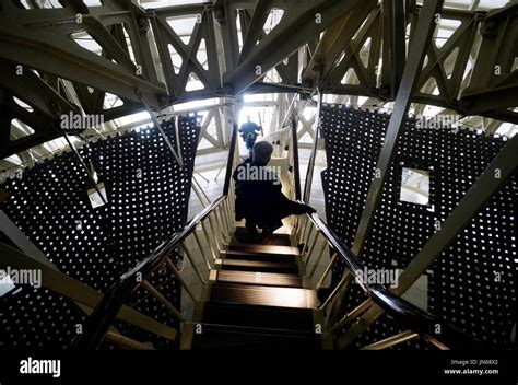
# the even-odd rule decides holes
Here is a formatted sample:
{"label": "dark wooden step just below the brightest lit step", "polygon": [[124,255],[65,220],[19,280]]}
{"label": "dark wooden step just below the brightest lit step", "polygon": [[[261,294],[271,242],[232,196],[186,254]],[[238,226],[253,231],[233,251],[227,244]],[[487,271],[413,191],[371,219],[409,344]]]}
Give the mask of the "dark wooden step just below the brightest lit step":
{"label": "dark wooden step just below the brightest lit step", "polygon": [[208,302],[202,319],[207,324],[314,331],[313,313],[310,308]]}

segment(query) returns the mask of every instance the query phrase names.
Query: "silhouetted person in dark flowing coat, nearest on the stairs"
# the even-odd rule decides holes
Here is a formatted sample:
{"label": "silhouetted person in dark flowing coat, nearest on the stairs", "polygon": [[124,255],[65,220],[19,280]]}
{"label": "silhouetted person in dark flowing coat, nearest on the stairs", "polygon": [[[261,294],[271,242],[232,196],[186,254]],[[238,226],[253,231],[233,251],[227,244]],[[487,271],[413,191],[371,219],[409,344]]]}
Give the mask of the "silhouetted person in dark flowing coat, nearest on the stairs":
{"label": "silhouetted person in dark flowing coat, nearest on the stairs", "polygon": [[269,142],[254,145],[251,159],[247,159],[234,171],[236,182],[236,220],[246,220],[246,228],[252,234],[262,229],[259,241],[264,241],[282,226],[282,219],[289,215],[313,213],[315,209],[290,200],[282,194],[279,175],[267,167],[273,153]]}

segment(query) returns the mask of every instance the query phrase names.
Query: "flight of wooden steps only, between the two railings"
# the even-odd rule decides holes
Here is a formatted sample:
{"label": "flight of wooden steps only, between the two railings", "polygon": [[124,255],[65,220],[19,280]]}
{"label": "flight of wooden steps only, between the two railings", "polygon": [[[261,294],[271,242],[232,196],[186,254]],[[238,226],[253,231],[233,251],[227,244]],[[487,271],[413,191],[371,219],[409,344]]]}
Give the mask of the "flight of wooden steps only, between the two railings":
{"label": "flight of wooden steps only, between the two railings", "polygon": [[[282,233],[284,232],[284,233]],[[181,349],[332,348],[321,330],[323,312],[305,276],[296,242],[282,228],[269,245],[252,243],[244,228],[220,252]]]}

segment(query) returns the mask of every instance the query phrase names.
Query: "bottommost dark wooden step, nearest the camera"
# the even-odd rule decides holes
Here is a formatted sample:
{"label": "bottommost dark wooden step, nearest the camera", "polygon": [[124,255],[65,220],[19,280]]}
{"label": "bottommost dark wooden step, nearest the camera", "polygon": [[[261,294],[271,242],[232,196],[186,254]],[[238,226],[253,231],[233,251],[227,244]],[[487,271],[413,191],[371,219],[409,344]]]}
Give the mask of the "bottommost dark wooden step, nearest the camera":
{"label": "bottommost dark wooden step, nearest the camera", "polygon": [[[192,329],[190,349],[319,350],[320,335],[226,325],[198,324]],[[196,332],[196,331],[201,332]],[[190,331],[190,330],[188,330]],[[183,346],[183,348],[187,348]]]}

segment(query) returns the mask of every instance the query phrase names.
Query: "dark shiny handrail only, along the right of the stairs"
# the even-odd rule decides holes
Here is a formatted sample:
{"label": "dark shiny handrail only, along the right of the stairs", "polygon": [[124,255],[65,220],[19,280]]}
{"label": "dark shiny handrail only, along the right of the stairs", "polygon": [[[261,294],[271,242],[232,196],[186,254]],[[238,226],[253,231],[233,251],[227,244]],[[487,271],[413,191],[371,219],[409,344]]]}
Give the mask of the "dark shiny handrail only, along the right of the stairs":
{"label": "dark shiny handrail only, along the right of the stairs", "polygon": [[[299,200],[299,202],[303,202]],[[316,213],[307,214],[313,224],[321,232],[327,242],[332,246],[339,258],[343,260],[348,269],[360,283],[363,291],[379,305],[387,314],[405,328],[410,328],[431,340],[437,340],[434,332],[440,325],[440,339],[448,347],[458,349],[484,349],[485,342],[475,340],[452,325],[444,323],[435,315],[421,310],[412,303],[392,293],[379,283],[367,283],[363,281],[364,267],[356,259],[343,241],[332,231]]]}

